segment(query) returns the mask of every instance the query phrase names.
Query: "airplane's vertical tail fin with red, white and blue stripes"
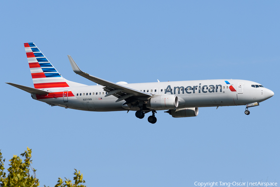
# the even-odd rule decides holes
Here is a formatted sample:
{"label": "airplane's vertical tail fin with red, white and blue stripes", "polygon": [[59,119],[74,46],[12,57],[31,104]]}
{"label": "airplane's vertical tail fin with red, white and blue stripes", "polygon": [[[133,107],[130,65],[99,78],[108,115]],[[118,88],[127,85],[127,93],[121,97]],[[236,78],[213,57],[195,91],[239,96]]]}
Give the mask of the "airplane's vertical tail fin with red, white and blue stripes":
{"label": "airplane's vertical tail fin with red, white and blue stripes", "polygon": [[85,86],[64,79],[34,43],[24,43],[34,88]]}

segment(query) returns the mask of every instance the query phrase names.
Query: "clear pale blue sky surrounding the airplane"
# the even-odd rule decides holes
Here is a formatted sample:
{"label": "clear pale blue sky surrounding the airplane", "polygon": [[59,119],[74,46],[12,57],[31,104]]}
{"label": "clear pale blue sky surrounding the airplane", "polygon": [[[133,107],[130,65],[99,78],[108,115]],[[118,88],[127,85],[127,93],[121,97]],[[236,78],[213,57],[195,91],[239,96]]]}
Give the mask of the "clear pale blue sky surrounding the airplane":
{"label": "clear pale blue sky surrounding the airplane", "polygon": [[[278,182],[279,1],[4,1],[1,3],[1,141],[8,160],[32,149],[40,185],[81,170],[87,186],[194,186]],[[67,55],[91,75],[128,83],[245,79],[275,95],[245,106],[199,108],[197,117],[51,107],[4,82],[33,87],[23,43],[62,76]]]}

